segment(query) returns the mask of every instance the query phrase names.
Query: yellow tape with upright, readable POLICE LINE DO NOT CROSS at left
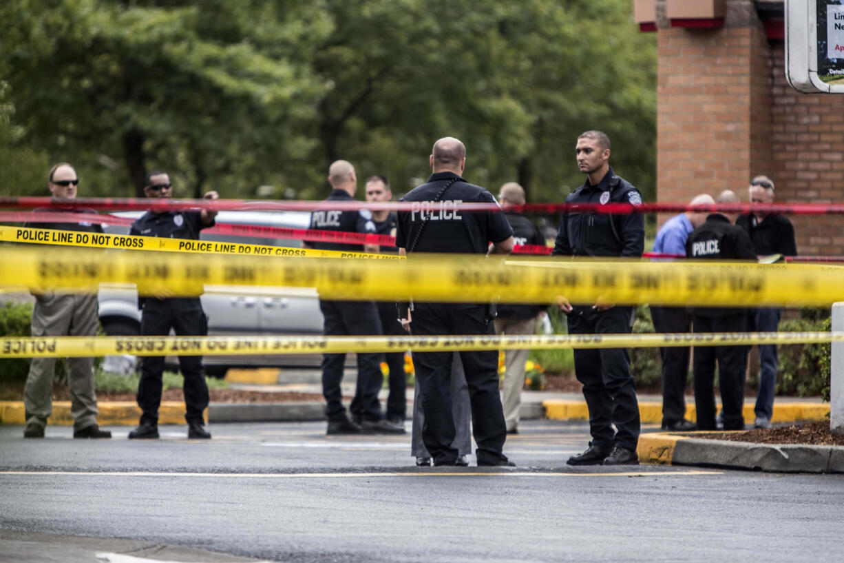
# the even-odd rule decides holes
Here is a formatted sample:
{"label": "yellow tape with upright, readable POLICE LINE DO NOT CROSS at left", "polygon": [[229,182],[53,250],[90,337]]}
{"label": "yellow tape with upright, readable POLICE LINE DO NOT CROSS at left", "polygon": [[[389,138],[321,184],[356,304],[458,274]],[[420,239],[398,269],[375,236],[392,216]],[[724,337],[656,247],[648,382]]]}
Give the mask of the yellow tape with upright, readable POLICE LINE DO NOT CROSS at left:
{"label": "yellow tape with upright, readable POLICE LINE DO NOT CROSS at left", "polygon": [[291,249],[270,244],[222,243],[185,238],[138,237],[99,232],[58,231],[32,227],[0,225],[0,242],[35,243],[98,249],[157,250],[196,254],[246,254],[251,256],[289,256],[296,258],[365,258],[368,260],[403,260],[397,254],[371,254],[339,250]]}

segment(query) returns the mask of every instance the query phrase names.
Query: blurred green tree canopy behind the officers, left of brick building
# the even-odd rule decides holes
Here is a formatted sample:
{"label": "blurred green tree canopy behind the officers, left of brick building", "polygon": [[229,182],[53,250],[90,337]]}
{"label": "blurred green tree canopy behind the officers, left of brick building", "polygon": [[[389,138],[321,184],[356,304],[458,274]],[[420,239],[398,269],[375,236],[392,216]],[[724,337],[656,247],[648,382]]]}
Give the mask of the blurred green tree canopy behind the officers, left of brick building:
{"label": "blurred green tree canopy behind the officers, left of brick building", "polygon": [[533,201],[582,183],[576,136],[655,193],[656,50],[628,0],[15,0],[0,6],[4,194],[43,194],[53,161],[80,194],[322,198],[354,163],[402,193],[433,141],[467,178]]}

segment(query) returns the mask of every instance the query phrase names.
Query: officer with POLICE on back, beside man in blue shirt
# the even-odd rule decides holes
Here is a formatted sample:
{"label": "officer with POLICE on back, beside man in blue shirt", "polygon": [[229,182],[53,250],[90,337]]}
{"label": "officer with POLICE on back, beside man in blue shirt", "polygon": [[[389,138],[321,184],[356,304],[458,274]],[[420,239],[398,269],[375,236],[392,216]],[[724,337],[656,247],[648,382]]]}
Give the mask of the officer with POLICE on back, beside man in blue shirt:
{"label": "officer with POLICE on back, beside man in blue shirt", "polygon": [[[717,203],[738,203],[738,196],[727,190]],[[686,256],[707,260],[753,260],[756,252],[747,232],[736,225],[738,214],[711,213],[706,222],[697,227],[686,241]],[[747,331],[747,309],[695,307],[692,309],[694,332]],[[747,369],[746,346],[695,346],[694,379],[697,429],[714,430],[715,363],[718,363],[718,383],[721,387],[725,430],[744,429],[744,376]]]}

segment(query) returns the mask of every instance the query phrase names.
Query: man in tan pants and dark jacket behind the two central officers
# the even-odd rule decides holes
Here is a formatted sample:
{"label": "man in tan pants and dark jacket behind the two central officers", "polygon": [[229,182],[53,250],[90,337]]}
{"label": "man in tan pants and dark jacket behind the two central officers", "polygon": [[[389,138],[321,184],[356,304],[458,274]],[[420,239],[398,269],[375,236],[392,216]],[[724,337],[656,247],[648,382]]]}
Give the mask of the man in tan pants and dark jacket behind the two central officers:
{"label": "man in tan pants and dark jacket behind the two central officers", "polygon": [[[498,194],[501,203],[524,205],[525,190],[518,183],[509,182],[501,186]],[[545,238],[539,227],[517,211],[504,212],[507,222],[513,227],[513,243],[545,246]],[[495,317],[495,334],[532,335],[536,332],[538,317],[544,315],[545,307],[532,304],[501,303]],[[504,352],[505,371],[501,385],[501,401],[504,404],[504,420],[507,434],[518,434],[519,411],[522,407],[522,387],[525,385],[525,362],[530,353],[527,349]]]}

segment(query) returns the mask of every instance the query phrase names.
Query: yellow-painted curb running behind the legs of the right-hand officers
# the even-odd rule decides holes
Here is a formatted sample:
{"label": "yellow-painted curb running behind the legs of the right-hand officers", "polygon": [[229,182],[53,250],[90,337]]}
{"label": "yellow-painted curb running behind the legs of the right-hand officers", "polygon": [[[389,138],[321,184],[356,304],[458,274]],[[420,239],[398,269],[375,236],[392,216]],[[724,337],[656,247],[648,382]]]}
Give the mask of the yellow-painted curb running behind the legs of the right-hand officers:
{"label": "yellow-painted curb running behind the legs of the right-hand officers", "polygon": [[[565,401],[561,399],[549,399],[543,401],[545,418],[550,420],[588,420],[589,411],[586,402]],[[717,405],[721,408],[721,404]],[[745,401],[744,424],[753,426],[756,415],[753,411],[754,402]],[[787,402],[774,404],[774,413],[771,417],[772,423],[805,422],[826,420],[830,413],[829,404],[817,402]],[[661,402],[639,402],[639,418],[644,424],[661,424],[663,421],[663,403]],[[694,400],[686,407],[686,418],[697,420]]]}

